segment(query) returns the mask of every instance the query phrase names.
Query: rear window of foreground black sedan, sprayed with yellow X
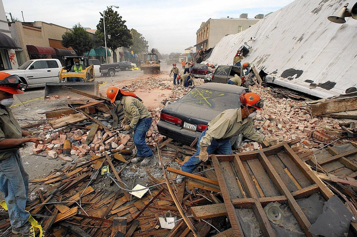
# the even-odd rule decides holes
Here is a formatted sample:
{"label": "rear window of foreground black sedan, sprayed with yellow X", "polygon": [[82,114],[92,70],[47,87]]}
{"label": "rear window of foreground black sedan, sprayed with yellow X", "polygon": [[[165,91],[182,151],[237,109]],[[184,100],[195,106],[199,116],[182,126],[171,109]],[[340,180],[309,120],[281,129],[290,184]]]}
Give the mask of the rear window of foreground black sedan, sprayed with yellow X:
{"label": "rear window of foreground black sedan, sprayed with yellow X", "polygon": [[183,96],[179,101],[190,105],[223,111],[237,108],[239,94],[196,87]]}

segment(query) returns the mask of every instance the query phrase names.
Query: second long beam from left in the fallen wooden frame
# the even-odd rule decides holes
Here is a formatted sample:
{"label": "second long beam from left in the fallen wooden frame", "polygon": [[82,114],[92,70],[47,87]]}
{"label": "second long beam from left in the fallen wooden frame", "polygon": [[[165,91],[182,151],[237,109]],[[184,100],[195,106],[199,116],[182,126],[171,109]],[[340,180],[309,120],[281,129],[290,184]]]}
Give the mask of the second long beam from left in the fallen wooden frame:
{"label": "second long beam from left in the fallen wooden frame", "polygon": [[236,171],[238,172],[238,176],[241,177],[242,186],[245,188],[245,192],[247,196],[250,196],[254,200],[253,212],[259,222],[259,226],[264,234],[264,236],[272,236],[275,237],[275,232],[270,225],[268,217],[260,203],[257,193],[255,192],[255,188],[253,187],[252,179],[248,176],[246,169],[240,160],[238,155],[235,156],[234,163],[236,165]]}

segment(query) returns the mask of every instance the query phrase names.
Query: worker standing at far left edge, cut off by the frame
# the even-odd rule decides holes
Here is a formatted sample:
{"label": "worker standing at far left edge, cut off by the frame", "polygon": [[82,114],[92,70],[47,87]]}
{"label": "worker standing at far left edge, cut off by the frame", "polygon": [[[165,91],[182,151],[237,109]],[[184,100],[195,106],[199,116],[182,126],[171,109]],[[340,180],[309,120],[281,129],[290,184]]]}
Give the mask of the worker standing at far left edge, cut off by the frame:
{"label": "worker standing at far left edge, cut off by the frame", "polygon": [[27,236],[31,224],[25,207],[38,197],[29,198],[29,175],[19,148],[26,142],[39,144],[43,139],[29,137],[31,133],[20,128],[10,109],[14,94],[23,94],[26,87],[19,76],[0,72],[0,190],[5,196],[12,232]]}

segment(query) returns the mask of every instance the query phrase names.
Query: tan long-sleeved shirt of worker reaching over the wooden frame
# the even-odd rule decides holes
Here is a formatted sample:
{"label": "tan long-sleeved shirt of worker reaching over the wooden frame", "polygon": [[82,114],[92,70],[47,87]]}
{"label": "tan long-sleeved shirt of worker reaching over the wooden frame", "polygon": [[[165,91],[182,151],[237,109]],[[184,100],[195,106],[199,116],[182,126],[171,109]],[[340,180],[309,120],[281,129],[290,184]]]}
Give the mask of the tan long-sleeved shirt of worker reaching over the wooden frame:
{"label": "tan long-sleeved shirt of worker reaching over the wooden frame", "polygon": [[200,147],[210,146],[213,139],[229,138],[240,133],[260,143],[265,138],[253,128],[252,118],[245,118],[242,121],[241,108],[225,110],[208,123],[208,129],[205,136],[201,138]]}

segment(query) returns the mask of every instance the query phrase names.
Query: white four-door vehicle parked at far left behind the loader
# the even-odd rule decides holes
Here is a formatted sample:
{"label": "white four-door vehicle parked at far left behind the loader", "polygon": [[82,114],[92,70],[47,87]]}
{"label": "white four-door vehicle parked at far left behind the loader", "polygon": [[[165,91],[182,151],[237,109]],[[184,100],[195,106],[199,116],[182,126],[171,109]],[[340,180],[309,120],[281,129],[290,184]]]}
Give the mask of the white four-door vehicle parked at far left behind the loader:
{"label": "white four-door vehicle parked at far left behind the loader", "polygon": [[18,75],[27,87],[44,87],[46,82],[58,82],[62,64],[58,59],[33,59],[22,64],[18,69],[4,70],[11,75]]}

